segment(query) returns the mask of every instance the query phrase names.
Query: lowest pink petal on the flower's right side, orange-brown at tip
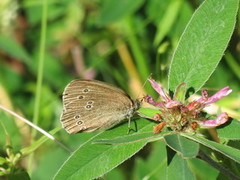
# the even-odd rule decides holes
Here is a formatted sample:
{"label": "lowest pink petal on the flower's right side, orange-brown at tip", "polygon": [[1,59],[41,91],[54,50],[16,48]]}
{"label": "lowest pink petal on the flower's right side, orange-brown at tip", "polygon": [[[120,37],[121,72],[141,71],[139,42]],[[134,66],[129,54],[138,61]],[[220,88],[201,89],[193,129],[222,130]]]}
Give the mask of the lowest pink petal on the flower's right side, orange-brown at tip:
{"label": "lowest pink petal on the flower's right side, orange-brown at tip", "polygon": [[197,123],[201,128],[210,128],[210,127],[220,126],[225,122],[227,122],[228,119],[229,119],[228,114],[223,112],[216,119],[211,119],[206,121],[197,121]]}

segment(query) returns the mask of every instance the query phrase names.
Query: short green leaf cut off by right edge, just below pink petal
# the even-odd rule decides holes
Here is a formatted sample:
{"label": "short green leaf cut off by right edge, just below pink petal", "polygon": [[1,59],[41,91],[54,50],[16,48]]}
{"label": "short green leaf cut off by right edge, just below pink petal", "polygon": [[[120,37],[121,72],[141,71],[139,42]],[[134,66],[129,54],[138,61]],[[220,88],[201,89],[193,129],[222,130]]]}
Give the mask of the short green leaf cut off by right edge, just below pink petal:
{"label": "short green leaf cut off by right edge, just below pink petal", "polygon": [[239,140],[240,139],[240,122],[233,119],[230,124],[226,123],[224,127],[218,127],[217,132],[220,138]]}

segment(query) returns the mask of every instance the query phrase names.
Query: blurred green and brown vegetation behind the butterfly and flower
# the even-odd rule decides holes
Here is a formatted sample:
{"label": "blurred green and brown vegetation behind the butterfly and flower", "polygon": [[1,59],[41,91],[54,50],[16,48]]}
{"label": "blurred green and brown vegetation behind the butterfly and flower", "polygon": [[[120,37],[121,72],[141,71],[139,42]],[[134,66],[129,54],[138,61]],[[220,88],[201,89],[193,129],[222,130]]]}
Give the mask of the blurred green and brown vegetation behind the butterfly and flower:
{"label": "blurred green and brown vegetation behind the butterfly and flower", "polygon": [[[44,2],[47,11],[43,9]],[[142,90],[144,81],[152,73],[166,87],[174,49],[201,2],[1,0],[0,104],[31,121],[34,119],[34,123],[50,131],[61,126],[61,94],[73,79],[109,82],[133,97],[139,97],[144,91],[153,94],[149,85]],[[223,61],[206,87],[218,90],[230,85],[232,89],[239,89],[239,35],[238,22]],[[239,108],[239,100],[231,102],[228,108]],[[7,137],[3,127],[14,152],[41,137],[3,111],[0,111],[0,122],[2,157],[6,156]],[[91,136],[70,136],[64,130],[55,135],[73,149]],[[146,158],[155,146],[147,146],[135,156],[136,161],[134,158],[126,161],[106,178],[130,177],[130,167],[138,179],[143,172],[136,163],[143,163],[142,158]],[[35,150],[34,157],[23,158],[17,167],[26,169],[33,179],[51,179],[67,156],[68,152],[60,146],[47,142]]]}

